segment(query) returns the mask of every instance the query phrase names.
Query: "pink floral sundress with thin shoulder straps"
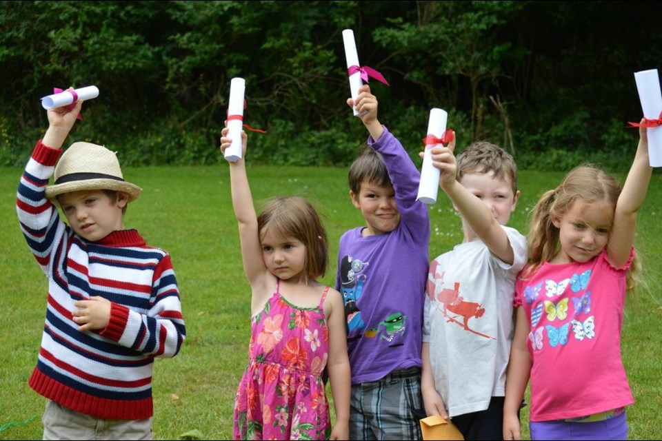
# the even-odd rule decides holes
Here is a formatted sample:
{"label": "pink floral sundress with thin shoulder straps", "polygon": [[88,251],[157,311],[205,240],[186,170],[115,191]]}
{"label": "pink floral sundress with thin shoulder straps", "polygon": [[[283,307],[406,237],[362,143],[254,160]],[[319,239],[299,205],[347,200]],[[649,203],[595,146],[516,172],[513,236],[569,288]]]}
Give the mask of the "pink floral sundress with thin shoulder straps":
{"label": "pink floral sundress with thin shoulder straps", "polygon": [[322,371],[328,328],[322,305],[301,308],[276,292],[252,317],[248,368],[234,399],[235,440],[324,440],[331,431]]}

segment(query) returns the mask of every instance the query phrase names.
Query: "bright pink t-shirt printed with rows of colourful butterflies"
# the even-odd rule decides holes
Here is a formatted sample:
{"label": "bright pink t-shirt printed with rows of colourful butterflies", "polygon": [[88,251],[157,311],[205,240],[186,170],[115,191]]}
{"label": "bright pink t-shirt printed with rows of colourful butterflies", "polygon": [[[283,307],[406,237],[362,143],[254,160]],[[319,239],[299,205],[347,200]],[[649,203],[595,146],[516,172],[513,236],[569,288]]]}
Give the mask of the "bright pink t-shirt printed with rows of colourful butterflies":
{"label": "bright pink t-shirt printed with rows of colourful butterflies", "polygon": [[517,278],[530,333],[531,421],[579,418],[634,402],[621,360],[625,267],[606,251],[585,263],[544,263]]}

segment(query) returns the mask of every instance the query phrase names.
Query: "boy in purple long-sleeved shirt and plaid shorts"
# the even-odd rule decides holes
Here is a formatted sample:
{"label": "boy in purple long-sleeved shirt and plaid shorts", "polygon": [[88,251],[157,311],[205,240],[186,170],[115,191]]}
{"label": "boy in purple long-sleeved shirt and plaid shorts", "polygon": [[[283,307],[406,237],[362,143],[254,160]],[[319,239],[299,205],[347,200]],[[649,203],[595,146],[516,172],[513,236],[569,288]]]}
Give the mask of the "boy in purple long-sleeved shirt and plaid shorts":
{"label": "boy in purple long-sleeved shirt and plaid shorts", "polygon": [[365,226],[340,239],[336,289],[343,295],[352,367],[350,439],[421,439],[421,329],[428,276],[428,208],[420,174],[377,120],[368,85],[354,101],[368,148],[350,167],[352,204]]}

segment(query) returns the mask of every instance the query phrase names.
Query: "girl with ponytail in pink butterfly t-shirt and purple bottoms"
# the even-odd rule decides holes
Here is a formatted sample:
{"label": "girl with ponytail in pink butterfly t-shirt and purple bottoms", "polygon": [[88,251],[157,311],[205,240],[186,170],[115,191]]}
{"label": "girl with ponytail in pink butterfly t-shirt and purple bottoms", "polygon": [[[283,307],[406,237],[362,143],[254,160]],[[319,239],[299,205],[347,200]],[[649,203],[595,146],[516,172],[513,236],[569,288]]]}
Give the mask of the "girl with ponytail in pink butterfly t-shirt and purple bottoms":
{"label": "girl with ponytail in pink butterfly t-shirt and purple bottoms", "polygon": [[529,380],[532,440],[627,439],[625,407],[634,398],[621,327],[625,292],[636,285],[636,218],[651,174],[640,127],[622,189],[609,174],[582,165],[536,204],[529,264],[516,281],[504,440],[520,439],[517,412]]}

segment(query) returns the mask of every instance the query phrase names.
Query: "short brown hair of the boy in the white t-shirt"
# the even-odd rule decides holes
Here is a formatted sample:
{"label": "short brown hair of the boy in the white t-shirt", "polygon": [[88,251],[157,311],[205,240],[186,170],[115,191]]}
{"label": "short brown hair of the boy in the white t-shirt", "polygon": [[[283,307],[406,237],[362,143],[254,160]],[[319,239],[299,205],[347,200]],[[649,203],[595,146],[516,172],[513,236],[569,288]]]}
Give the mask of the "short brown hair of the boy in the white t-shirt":
{"label": "short brown hair of the boy in the white t-shirt", "polygon": [[468,173],[493,172],[494,178],[510,178],[512,194],[517,193],[517,165],[510,153],[487,141],[471,143],[457,155],[457,181]]}

